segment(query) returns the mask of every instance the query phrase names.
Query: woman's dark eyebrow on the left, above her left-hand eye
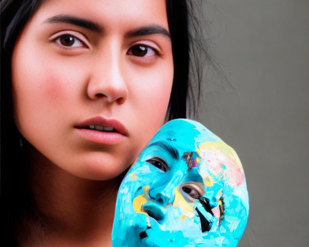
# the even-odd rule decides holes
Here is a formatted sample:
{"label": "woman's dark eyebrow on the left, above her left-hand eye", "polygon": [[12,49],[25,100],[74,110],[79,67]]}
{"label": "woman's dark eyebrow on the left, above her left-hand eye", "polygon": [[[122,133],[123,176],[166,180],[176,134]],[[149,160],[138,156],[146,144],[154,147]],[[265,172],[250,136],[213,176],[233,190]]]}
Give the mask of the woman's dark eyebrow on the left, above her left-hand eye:
{"label": "woman's dark eyebrow on the left, above her left-hand eye", "polygon": [[71,16],[71,15],[56,15],[56,16],[53,16],[45,20],[44,22],[47,22],[47,23],[64,22],[64,23],[73,24],[75,26],[84,27],[84,28],[87,28],[91,31],[95,31],[98,33],[103,32],[103,28],[99,24],[86,20],[86,19]]}

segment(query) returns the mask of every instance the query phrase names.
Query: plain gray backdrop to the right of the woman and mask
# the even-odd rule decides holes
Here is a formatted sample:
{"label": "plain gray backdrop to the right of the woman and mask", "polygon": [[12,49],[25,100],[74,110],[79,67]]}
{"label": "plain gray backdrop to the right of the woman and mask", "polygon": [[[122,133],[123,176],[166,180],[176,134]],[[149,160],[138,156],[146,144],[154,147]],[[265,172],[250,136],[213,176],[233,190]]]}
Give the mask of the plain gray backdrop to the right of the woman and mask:
{"label": "plain gray backdrop to the right of the woman and mask", "polygon": [[198,117],[245,170],[238,246],[309,246],[309,1],[208,2],[213,56],[232,86],[206,83]]}

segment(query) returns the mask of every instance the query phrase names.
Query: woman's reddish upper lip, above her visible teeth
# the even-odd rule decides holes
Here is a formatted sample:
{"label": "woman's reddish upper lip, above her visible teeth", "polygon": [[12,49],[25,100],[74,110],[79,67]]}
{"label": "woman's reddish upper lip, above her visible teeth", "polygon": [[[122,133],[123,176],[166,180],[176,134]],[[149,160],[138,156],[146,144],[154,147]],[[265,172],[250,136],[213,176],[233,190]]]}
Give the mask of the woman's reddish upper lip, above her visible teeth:
{"label": "woman's reddish upper lip, above her visible teeth", "polygon": [[125,128],[125,126],[120,121],[118,121],[117,119],[113,119],[113,118],[104,118],[103,116],[92,117],[90,119],[87,119],[77,124],[75,127],[83,128],[89,125],[101,125],[104,127],[112,127],[116,129],[120,134],[124,136],[128,135],[128,130]]}

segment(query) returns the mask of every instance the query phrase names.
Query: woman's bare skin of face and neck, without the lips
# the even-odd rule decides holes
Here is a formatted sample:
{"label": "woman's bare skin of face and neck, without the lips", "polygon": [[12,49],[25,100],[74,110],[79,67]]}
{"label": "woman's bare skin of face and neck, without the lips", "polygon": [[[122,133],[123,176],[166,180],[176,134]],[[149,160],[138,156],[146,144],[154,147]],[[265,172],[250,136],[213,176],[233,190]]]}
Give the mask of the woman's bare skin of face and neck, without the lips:
{"label": "woman's bare skin of face and neck, without the lips", "polygon": [[[30,239],[111,246],[117,176],[166,118],[173,58],[165,1],[43,1],[11,64],[15,123],[32,144],[29,182],[48,224],[37,239],[26,217]],[[121,122],[126,134],[113,144],[88,140],[76,126],[93,117]]]}

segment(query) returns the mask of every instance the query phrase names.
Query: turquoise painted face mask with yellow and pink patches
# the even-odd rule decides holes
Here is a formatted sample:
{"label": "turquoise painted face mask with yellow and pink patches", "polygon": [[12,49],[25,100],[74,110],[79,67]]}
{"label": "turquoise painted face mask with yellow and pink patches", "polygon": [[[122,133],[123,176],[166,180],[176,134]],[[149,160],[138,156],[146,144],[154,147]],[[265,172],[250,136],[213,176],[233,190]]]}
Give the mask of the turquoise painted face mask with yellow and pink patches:
{"label": "turquoise painted face mask with yellow and pink patches", "polygon": [[249,200],[235,151],[202,124],[167,122],[123,179],[112,244],[236,246]]}

